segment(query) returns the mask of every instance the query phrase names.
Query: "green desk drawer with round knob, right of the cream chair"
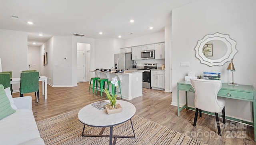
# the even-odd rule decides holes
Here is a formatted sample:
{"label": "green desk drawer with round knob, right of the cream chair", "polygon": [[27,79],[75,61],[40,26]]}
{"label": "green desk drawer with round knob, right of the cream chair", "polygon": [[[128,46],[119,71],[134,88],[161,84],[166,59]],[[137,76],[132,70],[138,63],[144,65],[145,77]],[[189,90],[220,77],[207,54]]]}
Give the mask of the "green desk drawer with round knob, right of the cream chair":
{"label": "green desk drawer with round knob, right of the cream chair", "polygon": [[240,99],[250,99],[253,100],[253,93],[248,93],[248,92],[242,92],[242,91],[231,91],[231,90],[225,90],[225,89],[220,89],[218,92],[218,96],[221,97],[236,97]]}

